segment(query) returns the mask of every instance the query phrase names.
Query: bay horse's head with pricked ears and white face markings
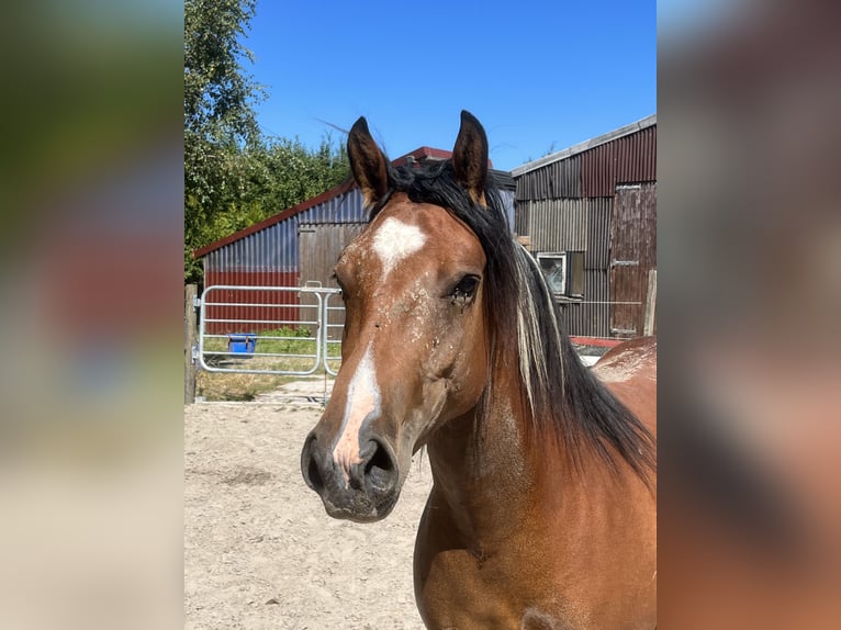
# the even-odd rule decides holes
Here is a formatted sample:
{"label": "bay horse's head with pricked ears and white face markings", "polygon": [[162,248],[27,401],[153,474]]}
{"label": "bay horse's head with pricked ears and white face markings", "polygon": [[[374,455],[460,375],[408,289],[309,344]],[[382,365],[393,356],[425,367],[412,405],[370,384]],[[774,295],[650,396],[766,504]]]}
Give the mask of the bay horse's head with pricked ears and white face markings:
{"label": "bay horse's head with pricked ears and white face markings", "polygon": [[412,454],[486,386],[485,248],[449,206],[490,212],[487,139],[462,112],[451,161],[417,184],[428,194],[401,185],[411,167],[391,166],[365,119],[347,146],[373,218],[335,268],[343,364],[301,466],[330,516],[373,521],[394,507]]}

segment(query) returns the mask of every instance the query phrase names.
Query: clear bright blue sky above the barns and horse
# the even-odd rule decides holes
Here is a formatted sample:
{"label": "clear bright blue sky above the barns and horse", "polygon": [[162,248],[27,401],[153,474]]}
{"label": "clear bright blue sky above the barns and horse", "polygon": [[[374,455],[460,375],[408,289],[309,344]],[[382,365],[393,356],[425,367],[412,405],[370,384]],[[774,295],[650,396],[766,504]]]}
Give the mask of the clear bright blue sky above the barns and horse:
{"label": "clear bright blue sky above the barns and horse", "polygon": [[314,147],[368,119],[385,153],[451,149],[462,109],[511,170],[657,111],[657,5],[259,0],[263,132]]}

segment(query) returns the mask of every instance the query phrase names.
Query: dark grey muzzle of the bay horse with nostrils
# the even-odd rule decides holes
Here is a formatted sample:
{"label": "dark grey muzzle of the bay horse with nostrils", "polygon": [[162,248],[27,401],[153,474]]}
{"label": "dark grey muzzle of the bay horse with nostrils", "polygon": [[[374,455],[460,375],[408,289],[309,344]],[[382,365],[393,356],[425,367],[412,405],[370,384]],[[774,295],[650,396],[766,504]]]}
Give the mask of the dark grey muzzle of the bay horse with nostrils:
{"label": "dark grey muzzle of the bay horse with nostrils", "polygon": [[385,518],[397,503],[401,483],[394,451],[377,438],[363,443],[360,461],[346,469],[334,460],[332,449],[324,448],[315,431],[304,442],[304,481],[334,518],[373,522]]}

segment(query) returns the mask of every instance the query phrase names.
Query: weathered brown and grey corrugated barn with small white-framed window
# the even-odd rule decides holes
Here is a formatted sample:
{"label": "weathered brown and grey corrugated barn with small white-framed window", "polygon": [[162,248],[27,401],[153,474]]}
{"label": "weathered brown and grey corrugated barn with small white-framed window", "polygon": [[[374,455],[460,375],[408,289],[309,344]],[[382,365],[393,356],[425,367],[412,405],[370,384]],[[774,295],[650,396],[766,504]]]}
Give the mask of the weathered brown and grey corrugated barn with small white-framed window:
{"label": "weathered brown and grey corrugated barn with small white-framed window", "polygon": [[512,170],[515,232],[572,336],[655,330],[657,114]]}

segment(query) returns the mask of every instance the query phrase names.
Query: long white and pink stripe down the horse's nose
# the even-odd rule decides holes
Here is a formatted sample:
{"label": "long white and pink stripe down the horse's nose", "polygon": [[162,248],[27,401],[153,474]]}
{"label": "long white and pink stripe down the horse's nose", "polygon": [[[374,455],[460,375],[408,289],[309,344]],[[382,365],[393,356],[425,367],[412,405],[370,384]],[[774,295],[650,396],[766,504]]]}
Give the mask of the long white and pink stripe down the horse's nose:
{"label": "long white and pink stripe down the horse's nose", "polygon": [[377,384],[377,371],[369,345],[348,385],[345,417],[341,420],[339,437],[333,447],[333,461],[341,468],[346,485],[350,466],[362,461],[359,457],[359,430],[367,418],[377,417],[379,414],[380,386]]}

